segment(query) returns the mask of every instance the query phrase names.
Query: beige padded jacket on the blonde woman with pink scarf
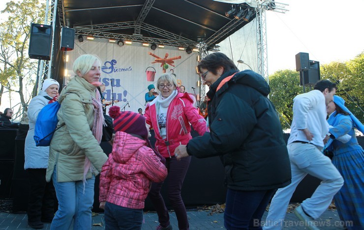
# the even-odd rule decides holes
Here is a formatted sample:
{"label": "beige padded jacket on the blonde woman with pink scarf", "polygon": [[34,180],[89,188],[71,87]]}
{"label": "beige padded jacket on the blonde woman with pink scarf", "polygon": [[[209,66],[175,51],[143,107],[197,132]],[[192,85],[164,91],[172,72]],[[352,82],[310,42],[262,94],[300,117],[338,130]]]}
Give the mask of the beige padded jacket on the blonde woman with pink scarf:
{"label": "beige padded jacket on the blonde woman with pink scarf", "polygon": [[[96,87],[82,77],[73,77],[58,100],[58,129],[50,145],[46,180],[50,181],[55,166],[57,181],[69,182],[83,179],[85,157],[92,164],[95,175],[101,172],[107,156],[92,135],[94,111],[91,97],[95,97]],[[69,92],[74,92],[67,94]],[[86,179],[91,178],[89,171]]]}

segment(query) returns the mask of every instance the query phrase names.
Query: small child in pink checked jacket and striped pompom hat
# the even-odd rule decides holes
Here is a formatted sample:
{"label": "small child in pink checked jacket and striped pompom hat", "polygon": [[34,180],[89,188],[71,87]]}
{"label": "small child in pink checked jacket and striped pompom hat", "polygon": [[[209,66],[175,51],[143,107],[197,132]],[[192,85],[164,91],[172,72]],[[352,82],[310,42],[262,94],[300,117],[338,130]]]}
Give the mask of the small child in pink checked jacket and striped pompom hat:
{"label": "small child in pink checked jacket and striped pompom hat", "polygon": [[[167,177],[165,159],[149,142],[145,117],[112,106],[116,131],[113,151],[100,175],[100,208],[105,209],[105,229],[141,229],[144,201],[151,181]],[[161,162],[163,161],[163,162]]]}

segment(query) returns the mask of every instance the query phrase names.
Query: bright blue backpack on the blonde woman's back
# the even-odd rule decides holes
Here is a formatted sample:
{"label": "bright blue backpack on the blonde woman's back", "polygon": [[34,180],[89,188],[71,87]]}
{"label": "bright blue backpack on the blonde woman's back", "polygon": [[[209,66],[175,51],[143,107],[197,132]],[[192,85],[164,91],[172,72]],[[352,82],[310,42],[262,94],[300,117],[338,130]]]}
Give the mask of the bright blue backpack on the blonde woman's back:
{"label": "bright blue backpack on the blonde woman's back", "polygon": [[[74,93],[74,92],[69,92]],[[68,94],[68,93],[67,93]],[[76,94],[76,93],[74,93]],[[38,113],[34,128],[34,141],[36,146],[49,146],[56,130],[64,126],[64,123],[57,128],[57,113],[61,104],[53,102],[44,106]]]}

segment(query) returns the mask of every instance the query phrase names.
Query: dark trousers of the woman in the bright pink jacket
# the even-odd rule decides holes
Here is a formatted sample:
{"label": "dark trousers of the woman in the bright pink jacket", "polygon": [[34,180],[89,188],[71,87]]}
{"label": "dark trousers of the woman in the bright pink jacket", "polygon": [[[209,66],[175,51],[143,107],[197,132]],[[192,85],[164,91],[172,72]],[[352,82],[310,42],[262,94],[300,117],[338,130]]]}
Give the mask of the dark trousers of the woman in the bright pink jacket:
{"label": "dark trousers of the woman in the bright pink jacket", "polygon": [[[172,158],[166,158],[166,167],[168,169],[168,199],[175,210],[180,230],[189,230],[186,207],[184,206],[181,197],[181,189],[190,162],[191,156],[184,157],[180,161],[178,161],[174,156],[172,156]],[[168,209],[164,204],[162,195],[160,194],[162,184],[163,182],[152,183],[149,197],[157,211],[160,225],[162,227],[168,227],[170,225]]]}

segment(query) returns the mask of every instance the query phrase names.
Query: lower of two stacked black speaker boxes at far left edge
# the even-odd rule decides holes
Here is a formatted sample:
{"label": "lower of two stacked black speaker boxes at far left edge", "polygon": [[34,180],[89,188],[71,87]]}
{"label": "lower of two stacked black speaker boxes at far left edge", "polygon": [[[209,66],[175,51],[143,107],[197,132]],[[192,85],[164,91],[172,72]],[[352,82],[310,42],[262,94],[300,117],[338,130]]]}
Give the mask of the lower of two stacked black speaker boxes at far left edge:
{"label": "lower of two stacked black speaker boxes at far left edge", "polygon": [[0,161],[0,198],[10,198],[13,161]]}

